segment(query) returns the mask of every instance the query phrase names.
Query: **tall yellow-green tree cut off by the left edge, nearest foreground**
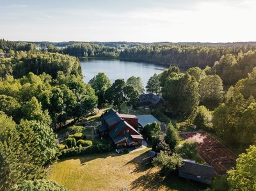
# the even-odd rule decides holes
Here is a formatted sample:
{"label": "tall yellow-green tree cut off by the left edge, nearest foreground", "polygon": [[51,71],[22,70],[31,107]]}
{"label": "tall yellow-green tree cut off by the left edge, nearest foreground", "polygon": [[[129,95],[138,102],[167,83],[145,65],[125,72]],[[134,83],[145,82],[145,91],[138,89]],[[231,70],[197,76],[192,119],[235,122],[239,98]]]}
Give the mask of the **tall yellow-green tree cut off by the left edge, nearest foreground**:
{"label": "tall yellow-green tree cut off by the left edge, nearest foreground", "polygon": [[36,165],[37,159],[23,149],[19,134],[12,118],[0,112],[0,190],[45,175],[42,165]]}

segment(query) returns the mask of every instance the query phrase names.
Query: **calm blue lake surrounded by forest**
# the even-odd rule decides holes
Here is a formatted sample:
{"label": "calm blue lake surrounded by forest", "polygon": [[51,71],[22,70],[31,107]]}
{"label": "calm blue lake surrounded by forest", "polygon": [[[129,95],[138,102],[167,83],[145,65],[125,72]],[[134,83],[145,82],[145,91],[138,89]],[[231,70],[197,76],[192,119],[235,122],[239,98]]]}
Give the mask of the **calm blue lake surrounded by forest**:
{"label": "calm blue lake surrounded by forest", "polygon": [[84,82],[88,83],[97,73],[104,72],[111,82],[116,79],[124,79],[125,81],[134,75],[141,77],[144,87],[147,86],[148,79],[154,73],[163,72],[166,67],[149,63],[141,63],[134,61],[121,61],[120,59],[80,59]]}

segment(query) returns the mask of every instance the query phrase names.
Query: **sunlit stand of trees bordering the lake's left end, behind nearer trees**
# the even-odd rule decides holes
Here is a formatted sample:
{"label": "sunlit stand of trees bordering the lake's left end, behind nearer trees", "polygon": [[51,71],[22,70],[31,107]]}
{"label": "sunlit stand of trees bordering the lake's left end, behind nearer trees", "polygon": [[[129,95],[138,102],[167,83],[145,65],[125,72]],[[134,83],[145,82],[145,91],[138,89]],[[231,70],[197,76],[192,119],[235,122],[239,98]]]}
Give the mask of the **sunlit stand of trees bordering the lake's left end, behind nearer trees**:
{"label": "sunlit stand of trees bordering the lake's left end, behind nearer trees", "polygon": [[6,74],[20,78],[33,72],[36,75],[47,73],[56,79],[57,73],[81,76],[81,65],[76,57],[59,53],[43,53],[39,50],[16,51],[12,59],[1,59],[1,77]]}

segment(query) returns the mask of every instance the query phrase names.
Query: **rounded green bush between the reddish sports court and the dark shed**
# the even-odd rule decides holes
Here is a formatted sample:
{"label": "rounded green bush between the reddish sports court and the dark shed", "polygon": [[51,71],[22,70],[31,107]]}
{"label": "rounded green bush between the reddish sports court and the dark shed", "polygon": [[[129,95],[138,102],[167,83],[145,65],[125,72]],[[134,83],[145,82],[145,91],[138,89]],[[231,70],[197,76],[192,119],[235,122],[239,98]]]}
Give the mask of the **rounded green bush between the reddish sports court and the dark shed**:
{"label": "rounded green bush between the reddish sports court and the dark shed", "polygon": [[179,154],[182,158],[196,160],[198,153],[197,143],[195,141],[186,141],[182,145],[175,147],[175,153]]}

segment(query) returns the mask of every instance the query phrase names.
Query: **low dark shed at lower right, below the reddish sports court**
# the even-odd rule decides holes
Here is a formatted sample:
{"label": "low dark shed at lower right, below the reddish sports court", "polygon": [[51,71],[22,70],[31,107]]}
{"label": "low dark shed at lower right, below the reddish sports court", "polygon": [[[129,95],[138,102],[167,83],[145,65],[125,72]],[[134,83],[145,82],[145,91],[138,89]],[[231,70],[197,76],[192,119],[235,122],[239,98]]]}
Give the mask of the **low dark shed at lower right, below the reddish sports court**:
{"label": "low dark shed at lower right, below the reddish sports court", "polygon": [[195,160],[182,160],[183,165],[179,167],[179,176],[201,183],[212,183],[214,178],[214,167],[209,165],[197,164]]}

